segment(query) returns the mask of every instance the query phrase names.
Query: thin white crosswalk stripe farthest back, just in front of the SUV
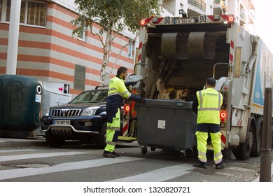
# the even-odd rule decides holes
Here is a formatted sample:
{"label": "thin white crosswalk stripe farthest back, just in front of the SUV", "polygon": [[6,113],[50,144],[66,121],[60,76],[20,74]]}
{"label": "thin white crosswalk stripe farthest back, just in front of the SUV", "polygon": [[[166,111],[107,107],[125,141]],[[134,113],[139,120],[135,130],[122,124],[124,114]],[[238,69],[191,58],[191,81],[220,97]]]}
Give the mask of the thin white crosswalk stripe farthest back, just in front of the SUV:
{"label": "thin white crosswalk stripe farthest back, just in front of the SUV", "polygon": [[80,155],[86,154],[81,152],[67,152],[67,153],[37,153],[37,154],[25,154],[25,155],[6,155],[0,156],[0,162],[10,161],[10,160],[24,160],[33,158],[50,158],[64,155]]}

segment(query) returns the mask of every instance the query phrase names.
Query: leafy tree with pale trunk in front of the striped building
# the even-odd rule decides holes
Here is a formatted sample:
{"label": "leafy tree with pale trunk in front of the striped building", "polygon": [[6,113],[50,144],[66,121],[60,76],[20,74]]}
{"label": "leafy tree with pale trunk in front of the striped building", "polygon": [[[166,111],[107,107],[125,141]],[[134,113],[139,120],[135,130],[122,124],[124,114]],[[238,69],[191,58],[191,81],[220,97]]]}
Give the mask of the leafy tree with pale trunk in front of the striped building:
{"label": "leafy tree with pale trunk in front of the striped building", "polygon": [[[123,34],[127,29],[134,34],[134,41],[139,33],[139,21],[142,18],[148,18],[151,15],[160,15],[162,1],[158,0],[75,0],[78,18],[71,21],[74,25],[73,36],[82,34],[85,27],[90,29],[93,36],[98,36],[102,43],[102,68],[100,83],[106,82],[105,71],[109,66],[113,40],[118,34]],[[95,31],[93,25],[97,23],[101,26],[99,31]],[[106,29],[106,38],[102,38]],[[132,41],[132,40],[131,40]],[[122,50],[130,42],[123,45],[120,49],[117,59],[120,57]],[[116,66],[117,59],[113,66]],[[113,68],[111,69],[113,71]]]}

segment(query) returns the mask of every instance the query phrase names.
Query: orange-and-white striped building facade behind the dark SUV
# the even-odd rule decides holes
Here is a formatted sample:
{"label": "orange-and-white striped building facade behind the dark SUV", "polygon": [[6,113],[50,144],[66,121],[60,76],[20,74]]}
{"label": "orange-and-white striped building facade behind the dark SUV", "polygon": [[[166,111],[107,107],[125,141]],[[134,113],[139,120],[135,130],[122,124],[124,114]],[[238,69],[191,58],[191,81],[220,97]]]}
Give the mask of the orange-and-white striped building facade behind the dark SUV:
{"label": "orange-and-white striped building facade behind the dark SUV", "polygon": [[[6,73],[10,2],[0,0],[0,74]],[[80,37],[72,37],[71,20],[78,14],[75,6],[67,2],[22,0],[16,74],[69,83],[71,94],[76,95],[99,85],[103,51],[99,38],[88,29]],[[94,29],[99,31],[99,25],[94,24]],[[124,34],[116,37],[108,73],[130,38]],[[123,49],[113,75],[119,66],[127,66],[132,73],[133,46],[134,43]]]}

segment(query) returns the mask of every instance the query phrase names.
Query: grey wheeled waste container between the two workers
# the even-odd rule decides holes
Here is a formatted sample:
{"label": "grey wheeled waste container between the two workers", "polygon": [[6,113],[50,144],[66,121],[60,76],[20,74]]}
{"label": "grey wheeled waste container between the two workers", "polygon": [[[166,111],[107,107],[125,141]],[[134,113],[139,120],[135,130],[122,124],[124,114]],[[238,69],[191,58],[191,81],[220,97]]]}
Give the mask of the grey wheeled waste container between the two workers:
{"label": "grey wheeled waste container between the two workers", "polygon": [[137,104],[137,141],[141,152],[160,148],[169,151],[186,151],[196,146],[197,115],[192,102],[179,100],[147,99]]}

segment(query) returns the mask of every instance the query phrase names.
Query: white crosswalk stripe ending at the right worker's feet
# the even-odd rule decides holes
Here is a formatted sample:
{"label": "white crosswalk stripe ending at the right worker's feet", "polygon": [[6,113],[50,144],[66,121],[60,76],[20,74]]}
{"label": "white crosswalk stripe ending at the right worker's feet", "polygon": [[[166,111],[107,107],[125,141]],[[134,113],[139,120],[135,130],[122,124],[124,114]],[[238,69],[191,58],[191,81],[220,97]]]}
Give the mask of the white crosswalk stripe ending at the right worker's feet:
{"label": "white crosswalk stripe ending at the right worker's feet", "polygon": [[144,174],[128,176],[122,179],[115,179],[110,182],[162,182],[188,174],[190,172],[188,172],[187,170],[193,168],[194,167],[190,164],[174,165],[170,167],[164,167],[162,169],[156,169],[154,171],[146,172]]}

